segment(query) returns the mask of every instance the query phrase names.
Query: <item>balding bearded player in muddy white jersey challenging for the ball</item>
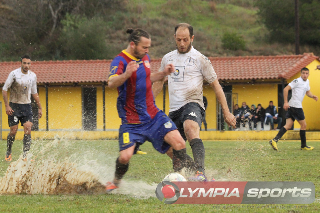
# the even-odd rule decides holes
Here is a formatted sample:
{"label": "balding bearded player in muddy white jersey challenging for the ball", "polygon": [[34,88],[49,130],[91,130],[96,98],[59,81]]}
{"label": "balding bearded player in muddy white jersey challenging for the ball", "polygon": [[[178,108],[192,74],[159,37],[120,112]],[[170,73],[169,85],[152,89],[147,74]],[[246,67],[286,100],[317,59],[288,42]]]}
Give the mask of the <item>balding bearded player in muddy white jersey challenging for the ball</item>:
{"label": "balding bearded player in muddy white jersey challenging for the ball", "polygon": [[[230,113],[227,101],[210,60],[193,48],[193,28],[180,23],[174,28],[176,50],[166,54],[161,61],[160,72],[167,64],[175,66],[175,72],[168,76],[170,110],[169,117],[178,127],[184,140],[188,140],[196,163],[196,177],[207,181],[204,174],[204,145],[200,139],[200,127],[204,114],[202,85],[206,80],[213,88],[223,110],[224,120],[235,128],[236,119]],[[154,83],[156,96],[164,80]]]}

